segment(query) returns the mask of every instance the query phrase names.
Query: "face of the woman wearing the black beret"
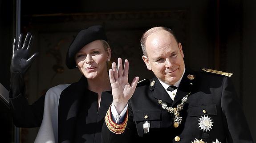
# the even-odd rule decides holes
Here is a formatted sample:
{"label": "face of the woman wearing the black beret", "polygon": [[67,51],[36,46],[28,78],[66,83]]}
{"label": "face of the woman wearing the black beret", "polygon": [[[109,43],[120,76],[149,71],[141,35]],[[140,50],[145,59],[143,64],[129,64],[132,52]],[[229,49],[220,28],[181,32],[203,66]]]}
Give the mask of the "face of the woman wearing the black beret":
{"label": "face of the woman wearing the black beret", "polygon": [[75,61],[78,69],[86,78],[96,79],[107,73],[106,62],[110,57],[110,48],[104,48],[102,41],[95,40],[77,52]]}

